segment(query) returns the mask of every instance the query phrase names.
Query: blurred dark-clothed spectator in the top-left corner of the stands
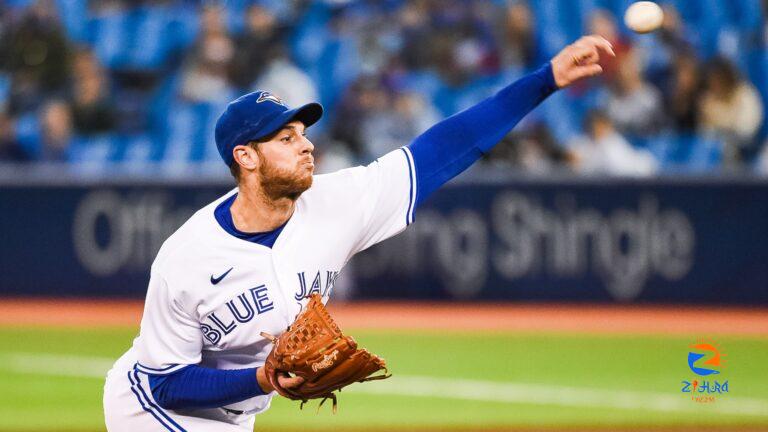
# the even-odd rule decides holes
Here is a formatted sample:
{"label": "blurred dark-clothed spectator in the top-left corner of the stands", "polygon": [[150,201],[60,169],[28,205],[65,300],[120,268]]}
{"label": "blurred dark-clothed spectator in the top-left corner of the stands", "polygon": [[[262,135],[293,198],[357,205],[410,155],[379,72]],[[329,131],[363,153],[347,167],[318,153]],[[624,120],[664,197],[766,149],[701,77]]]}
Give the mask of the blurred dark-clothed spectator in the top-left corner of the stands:
{"label": "blurred dark-clothed spectator in the top-left corner of the stands", "polygon": [[52,0],[35,1],[3,35],[0,62],[12,77],[12,114],[33,111],[47,95],[63,92],[70,47]]}

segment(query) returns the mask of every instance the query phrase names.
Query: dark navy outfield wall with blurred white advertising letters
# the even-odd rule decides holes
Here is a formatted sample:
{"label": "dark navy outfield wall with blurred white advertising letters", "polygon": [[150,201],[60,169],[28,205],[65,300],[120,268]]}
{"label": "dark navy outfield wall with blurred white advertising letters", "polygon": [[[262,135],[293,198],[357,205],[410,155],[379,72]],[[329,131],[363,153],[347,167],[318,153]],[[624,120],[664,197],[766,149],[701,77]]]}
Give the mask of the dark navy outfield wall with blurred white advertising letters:
{"label": "dark navy outfield wall with blurred white advertising letters", "polygon": [[[0,294],[142,297],[163,240],[228,188],[7,182]],[[342,278],[352,298],[765,305],[766,239],[764,181],[475,178]]]}

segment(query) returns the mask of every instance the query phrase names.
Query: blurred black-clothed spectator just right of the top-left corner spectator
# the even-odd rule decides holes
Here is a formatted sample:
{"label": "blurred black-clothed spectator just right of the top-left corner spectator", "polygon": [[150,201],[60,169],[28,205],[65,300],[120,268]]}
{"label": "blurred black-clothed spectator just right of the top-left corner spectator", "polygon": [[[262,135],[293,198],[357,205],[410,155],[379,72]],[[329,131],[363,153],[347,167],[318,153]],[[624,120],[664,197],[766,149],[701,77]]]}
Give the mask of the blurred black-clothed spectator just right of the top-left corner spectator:
{"label": "blurred black-clothed spectator just right of the top-left corner spectator", "polygon": [[79,134],[108,132],[115,127],[104,71],[88,50],[75,55],[73,63],[72,122]]}

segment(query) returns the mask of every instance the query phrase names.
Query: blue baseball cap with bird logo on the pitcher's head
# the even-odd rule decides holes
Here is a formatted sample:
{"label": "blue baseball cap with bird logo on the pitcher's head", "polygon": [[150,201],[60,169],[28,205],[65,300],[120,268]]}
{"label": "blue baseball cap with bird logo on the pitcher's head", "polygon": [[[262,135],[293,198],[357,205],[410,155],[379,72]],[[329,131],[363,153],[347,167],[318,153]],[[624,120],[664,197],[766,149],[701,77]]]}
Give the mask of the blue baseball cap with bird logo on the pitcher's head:
{"label": "blue baseball cap with bird logo on the pitcher's head", "polygon": [[232,150],[236,146],[268,137],[293,120],[309,127],[322,116],[323,107],[319,103],[289,108],[272,93],[248,93],[230,102],[216,120],[216,147],[224,163],[230,166],[235,160]]}

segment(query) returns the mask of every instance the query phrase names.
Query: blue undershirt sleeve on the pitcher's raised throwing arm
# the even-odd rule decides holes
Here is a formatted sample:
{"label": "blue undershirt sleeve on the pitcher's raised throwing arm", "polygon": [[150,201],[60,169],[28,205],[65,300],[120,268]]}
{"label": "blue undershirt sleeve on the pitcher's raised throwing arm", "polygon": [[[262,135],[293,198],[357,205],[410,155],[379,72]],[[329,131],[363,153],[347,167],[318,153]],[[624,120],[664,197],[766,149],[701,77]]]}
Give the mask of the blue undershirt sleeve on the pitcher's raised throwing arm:
{"label": "blue undershirt sleeve on the pitcher's raised throwing arm", "polygon": [[416,137],[408,145],[416,166],[416,205],[480,159],[556,90],[547,63]]}

